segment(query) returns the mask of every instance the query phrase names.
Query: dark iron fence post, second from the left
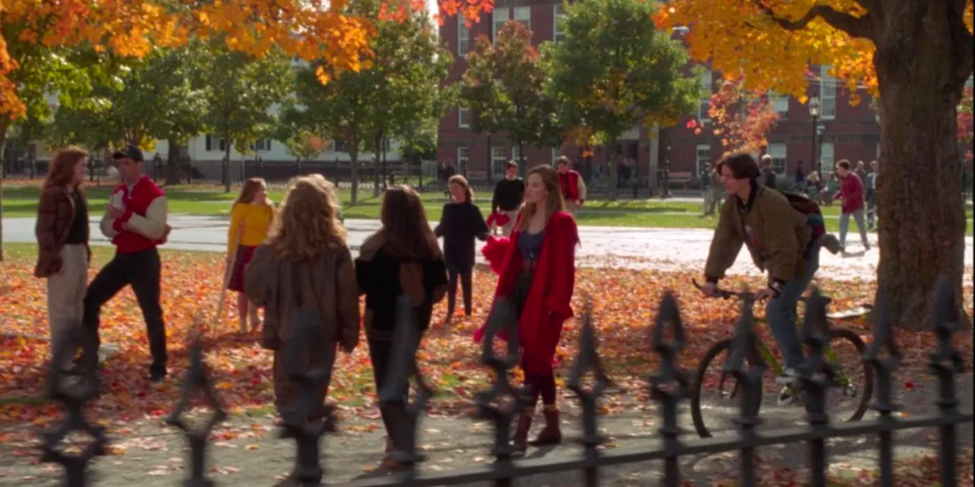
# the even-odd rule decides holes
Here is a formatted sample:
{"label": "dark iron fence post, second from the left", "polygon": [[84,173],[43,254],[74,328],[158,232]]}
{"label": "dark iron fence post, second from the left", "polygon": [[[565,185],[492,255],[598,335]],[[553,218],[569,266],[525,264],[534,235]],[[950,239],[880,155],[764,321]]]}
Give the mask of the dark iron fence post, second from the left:
{"label": "dark iron fence post, second from the left", "polygon": [[[182,414],[189,406],[190,398],[194,392],[203,393],[207,405],[214,409],[213,416],[207,421],[203,428],[191,428],[182,419]],[[203,361],[203,340],[200,335],[193,339],[190,348],[190,365],[186,381],[183,383],[182,395],[176,404],[176,409],[168,418],[166,424],[176,427],[183,432],[183,436],[190,447],[190,476],[183,480],[183,487],[211,487],[214,481],[207,478],[207,442],[210,433],[214,431],[216,425],[227,418],[226,412],[220,405],[216,397],[214,386],[210,382],[210,373],[207,364]]]}

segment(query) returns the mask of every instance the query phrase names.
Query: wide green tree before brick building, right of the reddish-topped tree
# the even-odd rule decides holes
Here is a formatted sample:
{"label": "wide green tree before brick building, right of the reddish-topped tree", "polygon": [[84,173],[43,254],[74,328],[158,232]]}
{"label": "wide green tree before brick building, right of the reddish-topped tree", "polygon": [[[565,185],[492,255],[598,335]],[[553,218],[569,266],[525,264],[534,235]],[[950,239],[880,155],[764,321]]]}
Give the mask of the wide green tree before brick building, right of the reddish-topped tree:
{"label": "wide green tree before brick building, right of the reddish-topped tree", "polygon": [[[673,124],[697,106],[700,84],[683,74],[688,57],[666,32],[656,30],[644,0],[586,0],[567,4],[565,39],[543,48],[546,89],[558,103],[561,124],[587,127],[607,142],[638,124]],[[609,180],[616,167],[607,160]],[[616,185],[609,185],[616,199]]]}

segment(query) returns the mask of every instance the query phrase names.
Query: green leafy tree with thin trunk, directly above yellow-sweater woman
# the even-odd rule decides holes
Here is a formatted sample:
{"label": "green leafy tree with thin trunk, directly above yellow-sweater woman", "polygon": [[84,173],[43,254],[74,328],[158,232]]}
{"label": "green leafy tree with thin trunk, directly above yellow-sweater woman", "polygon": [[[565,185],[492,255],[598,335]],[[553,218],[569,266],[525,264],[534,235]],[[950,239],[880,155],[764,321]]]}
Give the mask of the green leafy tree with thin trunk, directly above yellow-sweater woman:
{"label": "green leafy tree with thin trunk, directly above yellow-sweater woman", "polygon": [[210,45],[210,57],[198,73],[207,100],[207,127],[224,141],[223,188],[230,192],[230,149],[250,154],[257,138],[278,127],[271,113],[293,86],[291,59],[282,53],[260,58]]}

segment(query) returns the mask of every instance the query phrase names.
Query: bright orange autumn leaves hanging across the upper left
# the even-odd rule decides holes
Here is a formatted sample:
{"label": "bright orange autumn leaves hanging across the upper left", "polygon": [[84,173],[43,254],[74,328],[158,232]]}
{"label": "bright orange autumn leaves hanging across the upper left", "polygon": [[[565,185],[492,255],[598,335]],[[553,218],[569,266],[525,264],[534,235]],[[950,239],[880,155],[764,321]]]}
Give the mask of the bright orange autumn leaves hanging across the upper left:
{"label": "bright orange autumn leaves hanging across the upper left", "polygon": [[[215,0],[166,8],[154,0],[0,0],[0,118],[25,113],[18,71],[44,48],[90,44],[98,51],[141,57],[154,47],[177,47],[194,37],[221,36],[251,56],[278,47],[291,56],[325,60],[334,71],[368,65],[371,19],[347,13],[348,0]],[[383,19],[403,19],[425,8],[419,0],[383,0]],[[474,18],[492,0],[443,0],[446,15]],[[329,76],[323,70],[323,83]]]}

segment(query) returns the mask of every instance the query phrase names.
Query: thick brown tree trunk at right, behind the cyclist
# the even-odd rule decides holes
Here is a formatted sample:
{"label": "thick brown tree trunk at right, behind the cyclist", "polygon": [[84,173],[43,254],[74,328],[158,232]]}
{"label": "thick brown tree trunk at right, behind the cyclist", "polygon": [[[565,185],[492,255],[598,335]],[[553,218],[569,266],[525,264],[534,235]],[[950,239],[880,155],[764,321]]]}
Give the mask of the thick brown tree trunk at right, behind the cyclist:
{"label": "thick brown tree trunk at right, behind the cyclist", "polygon": [[896,325],[915,330],[931,324],[939,276],[961,303],[966,222],[956,107],[971,73],[971,59],[953,46],[950,16],[923,10],[886,16],[874,56],[883,113],[877,294],[887,298]]}

